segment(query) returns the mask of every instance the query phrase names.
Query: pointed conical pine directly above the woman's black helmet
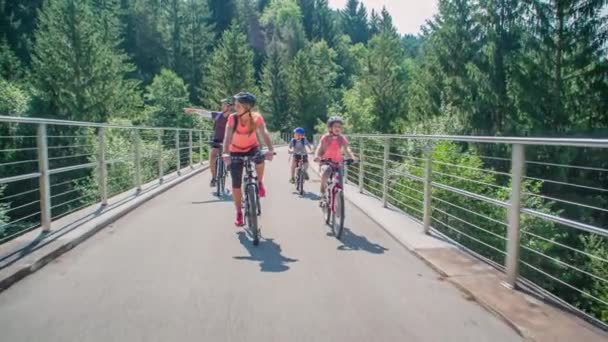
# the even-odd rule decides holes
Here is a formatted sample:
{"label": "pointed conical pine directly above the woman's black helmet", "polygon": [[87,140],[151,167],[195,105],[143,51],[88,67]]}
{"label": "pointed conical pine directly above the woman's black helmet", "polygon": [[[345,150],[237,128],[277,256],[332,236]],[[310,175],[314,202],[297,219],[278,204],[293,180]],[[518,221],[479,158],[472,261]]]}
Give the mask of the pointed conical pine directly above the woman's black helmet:
{"label": "pointed conical pine directly above the woman's black helmet", "polygon": [[211,56],[206,90],[207,105],[240,91],[255,92],[253,51],[236,23],[224,32]]}

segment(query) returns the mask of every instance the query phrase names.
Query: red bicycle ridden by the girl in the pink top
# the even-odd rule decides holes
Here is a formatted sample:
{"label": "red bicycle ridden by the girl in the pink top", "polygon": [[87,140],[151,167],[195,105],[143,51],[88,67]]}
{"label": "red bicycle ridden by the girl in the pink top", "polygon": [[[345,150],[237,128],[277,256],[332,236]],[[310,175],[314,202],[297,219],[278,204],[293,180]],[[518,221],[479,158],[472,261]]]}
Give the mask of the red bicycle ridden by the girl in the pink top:
{"label": "red bicycle ridden by the girl in the pink top", "polygon": [[[351,165],[352,159],[345,160],[343,164]],[[331,173],[327,181],[324,205],[322,206],[325,215],[325,223],[331,224],[332,231],[336,239],[340,240],[344,231],[344,186],[342,175],[342,163],[334,163],[331,160],[321,160],[321,165],[329,165]]]}

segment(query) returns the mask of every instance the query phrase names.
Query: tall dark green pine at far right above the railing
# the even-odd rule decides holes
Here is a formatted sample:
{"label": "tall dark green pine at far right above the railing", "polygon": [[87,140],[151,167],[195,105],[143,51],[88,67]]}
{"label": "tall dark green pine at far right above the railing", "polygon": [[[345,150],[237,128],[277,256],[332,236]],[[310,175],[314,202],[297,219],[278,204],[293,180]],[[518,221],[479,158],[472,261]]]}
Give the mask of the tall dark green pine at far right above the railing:
{"label": "tall dark green pine at far right above the railing", "polygon": [[608,95],[605,2],[536,0],[525,6],[532,14],[522,60],[528,77],[514,91],[529,129],[591,131],[608,125],[606,104],[597,102]]}

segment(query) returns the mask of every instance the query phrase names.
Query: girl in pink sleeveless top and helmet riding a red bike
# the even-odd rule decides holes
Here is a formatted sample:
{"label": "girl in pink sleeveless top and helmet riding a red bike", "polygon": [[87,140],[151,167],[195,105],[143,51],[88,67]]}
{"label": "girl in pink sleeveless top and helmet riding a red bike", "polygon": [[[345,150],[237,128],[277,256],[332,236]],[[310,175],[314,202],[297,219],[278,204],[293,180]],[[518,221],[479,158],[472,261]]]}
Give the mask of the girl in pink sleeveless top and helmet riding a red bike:
{"label": "girl in pink sleeveless top and helmet riding a red bike", "polygon": [[[344,158],[342,153],[346,154],[352,160],[356,160],[355,154],[351,151],[348,145],[348,140],[342,135],[342,124],[344,121],[338,116],[333,116],[327,120],[328,133],[321,137],[319,146],[315,153],[315,161],[320,162],[321,160],[329,160],[333,163],[342,163]],[[331,174],[331,166],[327,164],[321,165],[321,201],[323,201],[323,194],[327,189],[327,180]],[[323,202],[321,202],[323,205]]]}

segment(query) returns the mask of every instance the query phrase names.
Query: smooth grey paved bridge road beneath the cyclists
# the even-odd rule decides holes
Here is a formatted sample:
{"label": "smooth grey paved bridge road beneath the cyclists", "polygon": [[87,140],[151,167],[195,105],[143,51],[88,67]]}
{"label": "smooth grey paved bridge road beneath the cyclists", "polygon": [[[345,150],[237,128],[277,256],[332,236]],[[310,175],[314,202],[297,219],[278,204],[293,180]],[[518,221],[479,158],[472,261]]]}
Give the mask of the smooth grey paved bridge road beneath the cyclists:
{"label": "smooth grey paved bridge road beneath the cyclists", "polygon": [[0,294],[0,341],[521,340],[352,206],[328,236],[284,151],[267,175],[259,247],[196,176]]}

